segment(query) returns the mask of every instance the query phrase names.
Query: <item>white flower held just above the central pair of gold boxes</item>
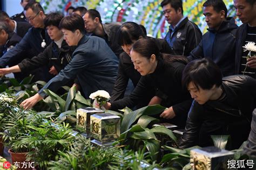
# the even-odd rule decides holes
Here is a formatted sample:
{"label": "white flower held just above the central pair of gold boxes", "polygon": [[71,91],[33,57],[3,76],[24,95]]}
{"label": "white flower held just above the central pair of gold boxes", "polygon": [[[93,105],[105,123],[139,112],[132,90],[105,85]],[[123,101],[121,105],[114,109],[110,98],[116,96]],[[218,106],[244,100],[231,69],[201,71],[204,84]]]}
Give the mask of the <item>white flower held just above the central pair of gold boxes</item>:
{"label": "white flower held just above the central pair of gold boxes", "polygon": [[94,93],[91,93],[89,98],[96,99],[97,103],[99,104],[99,108],[102,108],[103,105],[107,103],[110,99],[110,95],[105,90],[98,90]]}

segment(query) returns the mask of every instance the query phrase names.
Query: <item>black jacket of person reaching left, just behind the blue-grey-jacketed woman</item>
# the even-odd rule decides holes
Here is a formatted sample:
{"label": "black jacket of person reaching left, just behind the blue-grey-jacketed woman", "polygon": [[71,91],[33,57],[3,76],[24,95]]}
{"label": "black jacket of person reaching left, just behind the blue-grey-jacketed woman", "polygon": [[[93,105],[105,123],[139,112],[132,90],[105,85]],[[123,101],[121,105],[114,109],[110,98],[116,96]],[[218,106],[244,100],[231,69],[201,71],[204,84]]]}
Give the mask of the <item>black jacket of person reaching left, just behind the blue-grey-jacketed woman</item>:
{"label": "black jacket of person reaching left, just behind the blue-grey-jacketed woman", "polygon": [[38,56],[31,59],[26,58],[22,60],[18,66],[22,72],[34,70],[45,65],[48,67],[55,66],[55,69],[60,72],[60,70],[64,69],[64,67],[71,61],[74,50],[75,46],[70,47],[66,44],[65,40],[63,40],[60,49],[56,43],[52,42],[43,52],[39,53]]}

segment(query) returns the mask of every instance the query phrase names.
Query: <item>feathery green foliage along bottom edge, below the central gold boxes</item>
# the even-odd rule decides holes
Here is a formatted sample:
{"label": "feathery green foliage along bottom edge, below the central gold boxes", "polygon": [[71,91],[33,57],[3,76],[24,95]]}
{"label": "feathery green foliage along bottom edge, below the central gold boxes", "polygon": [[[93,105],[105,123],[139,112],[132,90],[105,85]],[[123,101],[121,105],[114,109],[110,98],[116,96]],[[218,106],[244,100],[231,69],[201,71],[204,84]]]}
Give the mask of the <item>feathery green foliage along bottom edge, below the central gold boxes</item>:
{"label": "feathery green foliage along bottom edge, below the central gold boxes", "polygon": [[[60,152],[58,161],[51,161],[49,169],[144,169],[141,162],[146,162],[144,151],[133,152],[119,147],[95,147],[90,139],[78,135],[71,152]],[[149,165],[146,169],[159,167]]]}

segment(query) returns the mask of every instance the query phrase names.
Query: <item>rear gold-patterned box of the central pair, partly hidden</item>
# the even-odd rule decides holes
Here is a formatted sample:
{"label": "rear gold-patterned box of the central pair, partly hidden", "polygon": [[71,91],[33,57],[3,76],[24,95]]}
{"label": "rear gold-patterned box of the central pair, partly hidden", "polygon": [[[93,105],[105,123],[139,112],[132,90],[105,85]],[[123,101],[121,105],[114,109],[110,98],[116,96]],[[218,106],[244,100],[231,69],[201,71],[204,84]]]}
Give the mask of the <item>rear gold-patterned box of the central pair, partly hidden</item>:
{"label": "rear gold-patterned box of the central pair, partly hidden", "polygon": [[84,131],[87,137],[90,136],[90,118],[95,113],[104,113],[104,111],[93,107],[79,108],[77,110],[77,129]]}

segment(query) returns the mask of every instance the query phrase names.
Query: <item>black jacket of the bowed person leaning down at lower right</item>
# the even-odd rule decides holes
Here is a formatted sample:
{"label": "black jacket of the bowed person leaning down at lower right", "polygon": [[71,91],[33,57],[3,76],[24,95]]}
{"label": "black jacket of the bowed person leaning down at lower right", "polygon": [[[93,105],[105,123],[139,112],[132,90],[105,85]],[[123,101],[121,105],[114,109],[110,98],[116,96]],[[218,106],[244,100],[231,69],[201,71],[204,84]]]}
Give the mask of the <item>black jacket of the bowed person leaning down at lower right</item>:
{"label": "black jacket of the bowed person leaning down at lower right", "polygon": [[223,99],[200,105],[193,101],[188,113],[180,148],[211,146],[210,135],[230,134],[232,147],[238,148],[250,132],[252,112],[256,107],[256,80],[243,75],[223,78]]}

